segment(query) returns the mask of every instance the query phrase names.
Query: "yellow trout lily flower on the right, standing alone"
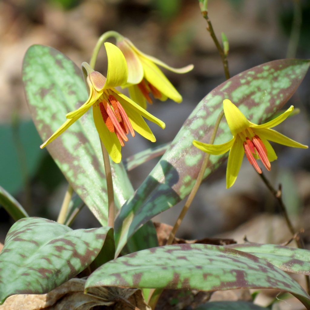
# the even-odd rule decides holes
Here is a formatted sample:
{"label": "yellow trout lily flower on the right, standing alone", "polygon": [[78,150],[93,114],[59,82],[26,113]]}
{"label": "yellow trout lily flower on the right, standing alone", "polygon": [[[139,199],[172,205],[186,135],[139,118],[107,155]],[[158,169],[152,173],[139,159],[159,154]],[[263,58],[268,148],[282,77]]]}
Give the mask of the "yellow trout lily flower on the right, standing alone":
{"label": "yellow trout lily flower on the right, standing alone", "polygon": [[244,153],[246,153],[248,161],[254,166],[258,173],[262,173],[262,170],[257,164],[257,159],[262,161],[267,170],[271,169],[270,162],[276,160],[277,155],[267,140],[293,148],[308,148],[307,145],[300,144],[270,129],[283,122],[290,113],[292,113],[294,110],[292,105],[275,119],[261,125],[256,125],[248,121],[230,100],[225,99],[223,101],[223,106],[225,117],[233,138],[219,145],[205,144],[195,140],[193,144],[200,150],[212,155],[221,155],[229,151],[226,170],[227,188],[230,188],[237,179]]}

